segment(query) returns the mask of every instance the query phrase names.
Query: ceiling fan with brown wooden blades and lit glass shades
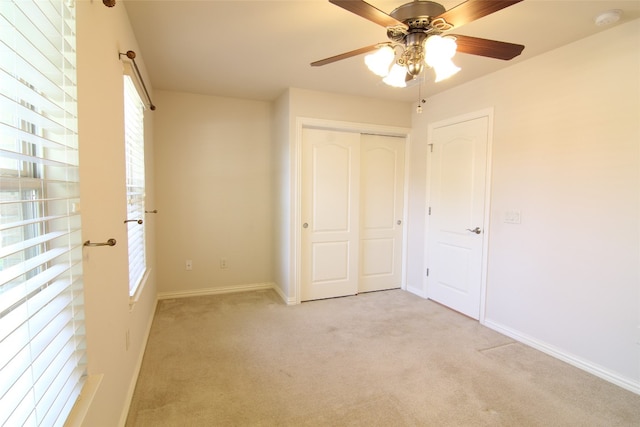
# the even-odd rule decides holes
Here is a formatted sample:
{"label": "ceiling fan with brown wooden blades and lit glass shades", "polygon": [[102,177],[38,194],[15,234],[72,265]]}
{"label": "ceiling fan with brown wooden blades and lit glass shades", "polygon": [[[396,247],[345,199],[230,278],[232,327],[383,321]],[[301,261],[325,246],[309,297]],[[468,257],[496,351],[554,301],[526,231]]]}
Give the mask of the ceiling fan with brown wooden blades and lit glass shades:
{"label": "ceiling fan with brown wooden blades and lit glass shades", "polygon": [[[420,75],[425,65],[435,69],[436,81],[455,74],[459,68],[451,62],[451,58],[456,50],[471,55],[510,60],[522,53],[523,45],[448,32],[521,1],[467,0],[446,10],[444,6],[433,1],[413,0],[387,14],[362,0],[329,0],[336,6],[386,27],[389,41],[315,61],[311,65],[326,65],[377,51],[374,55],[378,56],[378,60],[384,57],[382,65],[370,65],[376,58],[374,55],[367,55],[365,61],[369,68],[380,76],[386,76],[385,83],[404,86],[405,81]],[[440,51],[439,47],[444,50]],[[396,50],[399,51],[397,59]],[[392,62],[395,62],[393,67]],[[438,77],[438,74],[441,76]]]}

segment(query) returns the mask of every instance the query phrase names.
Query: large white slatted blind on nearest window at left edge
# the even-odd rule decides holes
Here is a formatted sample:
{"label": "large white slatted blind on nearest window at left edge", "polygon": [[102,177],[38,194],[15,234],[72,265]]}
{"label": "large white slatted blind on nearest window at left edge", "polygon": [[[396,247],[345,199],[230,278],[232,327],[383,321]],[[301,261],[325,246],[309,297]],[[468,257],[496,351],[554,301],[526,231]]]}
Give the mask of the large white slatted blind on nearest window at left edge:
{"label": "large white slatted blind on nearest window at left edge", "polygon": [[0,1],[0,425],[63,425],[86,376],[75,16]]}

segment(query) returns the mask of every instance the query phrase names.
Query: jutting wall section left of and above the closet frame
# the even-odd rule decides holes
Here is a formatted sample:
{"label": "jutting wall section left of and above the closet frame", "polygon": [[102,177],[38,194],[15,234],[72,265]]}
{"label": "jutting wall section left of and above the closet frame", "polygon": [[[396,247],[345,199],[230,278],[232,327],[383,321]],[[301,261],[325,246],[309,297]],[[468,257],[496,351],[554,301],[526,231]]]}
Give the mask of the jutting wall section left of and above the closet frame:
{"label": "jutting wall section left of and above the closet frame", "polygon": [[280,219],[276,238],[281,244],[275,248],[276,284],[283,299],[293,303],[298,297],[295,294],[296,235],[293,229],[298,191],[295,169],[297,120],[312,118],[409,128],[411,104],[290,88],[276,101],[275,108],[274,191],[278,200],[275,216]]}

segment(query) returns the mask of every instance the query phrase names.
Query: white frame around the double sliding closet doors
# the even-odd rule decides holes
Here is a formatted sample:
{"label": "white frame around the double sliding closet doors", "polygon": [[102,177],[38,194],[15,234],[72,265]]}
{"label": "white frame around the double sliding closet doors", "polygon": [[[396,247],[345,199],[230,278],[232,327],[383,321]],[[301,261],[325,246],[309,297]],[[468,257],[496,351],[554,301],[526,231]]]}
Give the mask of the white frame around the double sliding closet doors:
{"label": "white frame around the double sliding closet doors", "polygon": [[[406,289],[406,267],[407,267],[407,215],[408,215],[408,192],[409,192],[409,155],[411,152],[410,128],[398,126],[375,125],[371,123],[345,122],[337,120],[316,119],[311,117],[296,117],[295,141],[293,146],[292,168],[291,168],[291,188],[293,215],[290,228],[291,243],[291,269],[294,286],[293,295],[289,300],[294,304],[301,303],[302,286],[302,129],[315,128],[324,130],[338,130],[354,133],[369,133],[374,135],[396,136],[405,139],[404,151],[404,202],[402,223],[405,225],[402,230],[402,281],[401,289]],[[291,291],[291,290],[290,290]]]}

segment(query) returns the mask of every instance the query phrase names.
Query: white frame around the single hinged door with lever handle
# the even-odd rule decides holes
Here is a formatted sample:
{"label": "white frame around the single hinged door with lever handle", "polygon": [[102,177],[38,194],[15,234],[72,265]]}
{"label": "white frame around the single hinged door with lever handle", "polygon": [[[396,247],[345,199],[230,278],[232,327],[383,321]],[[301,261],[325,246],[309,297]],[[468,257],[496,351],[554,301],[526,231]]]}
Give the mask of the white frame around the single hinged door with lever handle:
{"label": "white frame around the single hinged door with lever handle", "polygon": [[[475,120],[486,117],[487,118],[487,159],[486,159],[486,175],[485,175],[485,192],[484,192],[484,220],[482,224],[482,272],[480,276],[480,324],[484,324],[485,308],[487,299],[487,277],[488,277],[488,260],[489,260],[489,233],[491,223],[491,162],[492,162],[492,146],[493,146],[493,107],[485,108],[482,110],[474,111],[471,113],[462,114],[448,119],[440,120],[437,122],[429,123],[427,126],[427,144],[433,144],[433,132],[436,128],[454,125],[457,123],[466,122],[469,120]],[[428,238],[430,233],[430,218],[428,206],[431,202],[431,152],[427,151],[427,176],[426,176],[426,194],[425,201],[427,209],[425,209],[425,234],[424,234],[424,266],[425,275],[423,276],[422,292],[423,297],[427,298],[428,285],[426,276],[426,266],[429,265],[429,253],[427,250]]]}

